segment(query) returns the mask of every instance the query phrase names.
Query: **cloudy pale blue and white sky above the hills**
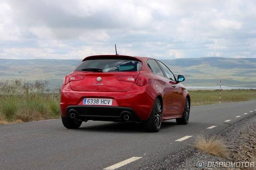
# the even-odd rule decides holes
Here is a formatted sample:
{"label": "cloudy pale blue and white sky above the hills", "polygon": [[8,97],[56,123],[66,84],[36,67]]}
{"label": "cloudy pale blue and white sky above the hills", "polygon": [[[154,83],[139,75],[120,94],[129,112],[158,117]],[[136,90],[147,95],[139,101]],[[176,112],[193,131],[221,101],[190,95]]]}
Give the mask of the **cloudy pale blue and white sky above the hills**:
{"label": "cloudy pale blue and white sky above the hills", "polygon": [[0,58],[256,58],[255,0],[1,0]]}

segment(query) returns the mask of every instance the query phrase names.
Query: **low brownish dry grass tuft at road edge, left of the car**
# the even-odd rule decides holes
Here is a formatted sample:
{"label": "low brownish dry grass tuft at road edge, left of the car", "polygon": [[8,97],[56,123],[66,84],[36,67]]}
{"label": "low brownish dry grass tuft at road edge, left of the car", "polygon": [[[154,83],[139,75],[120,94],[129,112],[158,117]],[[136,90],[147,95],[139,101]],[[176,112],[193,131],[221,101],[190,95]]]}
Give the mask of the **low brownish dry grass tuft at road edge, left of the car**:
{"label": "low brownish dry grass tuft at road edge, left of the car", "polygon": [[15,115],[15,122],[28,122],[33,120],[41,120],[42,115],[39,112],[36,112],[34,109],[22,108]]}

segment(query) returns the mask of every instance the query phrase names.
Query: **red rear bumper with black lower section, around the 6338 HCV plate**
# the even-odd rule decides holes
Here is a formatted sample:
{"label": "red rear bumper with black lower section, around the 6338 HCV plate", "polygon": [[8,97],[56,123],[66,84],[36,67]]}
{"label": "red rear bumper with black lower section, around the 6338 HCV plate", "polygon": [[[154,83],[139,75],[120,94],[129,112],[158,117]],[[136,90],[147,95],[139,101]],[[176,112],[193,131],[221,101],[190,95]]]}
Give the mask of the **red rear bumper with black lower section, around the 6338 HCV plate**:
{"label": "red rear bumper with black lower section, around the 6338 HCV plate", "polygon": [[[134,119],[147,120],[154,104],[155,94],[148,93],[146,88],[146,86],[133,85],[128,92],[80,92],[72,90],[68,83],[61,88],[61,114],[68,117],[69,110],[74,108],[78,110],[80,117],[87,116],[94,120],[96,117],[98,120],[100,117],[120,119],[120,114],[127,110],[134,115]],[[83,105],[84,98],[112,98],[113,103],[112,106]]]}

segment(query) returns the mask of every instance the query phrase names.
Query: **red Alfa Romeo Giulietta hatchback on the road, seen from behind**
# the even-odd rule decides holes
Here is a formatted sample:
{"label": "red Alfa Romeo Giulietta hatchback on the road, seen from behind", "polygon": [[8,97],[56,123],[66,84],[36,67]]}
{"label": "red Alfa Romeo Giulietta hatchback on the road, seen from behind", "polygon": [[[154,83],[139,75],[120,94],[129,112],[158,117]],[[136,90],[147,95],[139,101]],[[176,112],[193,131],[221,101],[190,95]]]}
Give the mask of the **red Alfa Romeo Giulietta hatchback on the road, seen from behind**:
{"label": "red Alfa Romeo Giulietta hatchback on the road, seen from behind", "polygon": [[142,122],[158,132],[162,121],[189,120],[190,96],[171,70],[150,57],[94,55],[86,57],[61,88],[61,118],[66,128],[83,121]]}

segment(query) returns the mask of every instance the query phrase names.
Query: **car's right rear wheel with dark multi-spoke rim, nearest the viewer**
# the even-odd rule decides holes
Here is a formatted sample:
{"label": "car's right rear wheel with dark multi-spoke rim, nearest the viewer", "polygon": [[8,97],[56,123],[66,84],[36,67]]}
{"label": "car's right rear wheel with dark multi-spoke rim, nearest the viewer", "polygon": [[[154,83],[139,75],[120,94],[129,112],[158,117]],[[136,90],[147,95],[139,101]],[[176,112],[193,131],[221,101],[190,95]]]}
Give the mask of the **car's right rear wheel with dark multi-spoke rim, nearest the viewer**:
{"label": "car's right rear wheel with dark multi-spoke rim, nearest the viewer", "polygon": [[158,132],[160,130],[162,125],[162,104],[159,98],[155,100],[150,117],[143,124],[148,132]]}

